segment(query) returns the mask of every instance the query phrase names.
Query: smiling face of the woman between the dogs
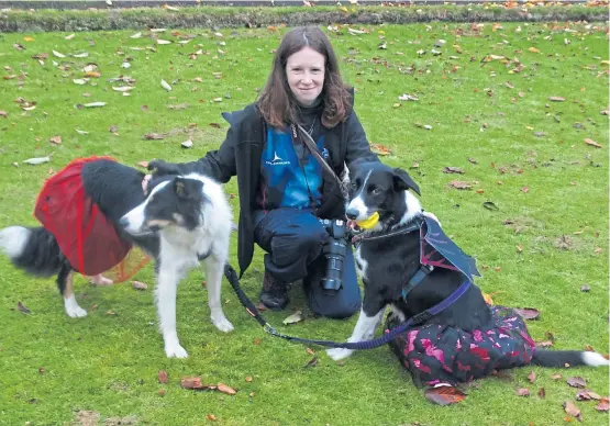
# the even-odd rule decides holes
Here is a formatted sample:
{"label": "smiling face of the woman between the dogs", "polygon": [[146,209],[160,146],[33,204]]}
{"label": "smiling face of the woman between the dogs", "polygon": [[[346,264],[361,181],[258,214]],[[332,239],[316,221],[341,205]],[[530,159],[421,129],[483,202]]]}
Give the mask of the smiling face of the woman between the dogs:
{"label": "smiling face of the woman between the dogs", "polygon": [[286,61],[286,78],[297,101],[311,105],[324,87],[324,55],[311,47],[293,53]]}

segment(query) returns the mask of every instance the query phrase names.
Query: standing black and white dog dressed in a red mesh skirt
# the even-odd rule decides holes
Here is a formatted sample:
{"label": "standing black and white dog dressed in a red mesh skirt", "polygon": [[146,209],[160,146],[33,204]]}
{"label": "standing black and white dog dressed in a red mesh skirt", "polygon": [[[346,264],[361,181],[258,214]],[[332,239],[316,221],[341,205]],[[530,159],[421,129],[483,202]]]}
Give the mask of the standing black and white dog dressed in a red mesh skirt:
{"label": "standing black and white dog dressed in a red mesh skirt", "polygon": [[[221,332],[233,329],[221,303],[222,273],[232,226],[231,208],[222,187],[208,177],[188,175],[154,179],[148,182],[147,197],[142,190],[143,178],[143,172],[108,159],[90,161],[81,171],[85,191],[120,237],[155,259],[155,300],[165,352],[169,358],[186,358],[188,354],[180,346],[176,332],[176,292],[187,272],[201,261],[206,265],[212,323]],[[46,228],[9,226],[0,231],[0,248],[15,267],[31,274],[57,274],[66,313],[71,317],[87,315],[76,302],[73,290],[73,272],[78,269]]]}

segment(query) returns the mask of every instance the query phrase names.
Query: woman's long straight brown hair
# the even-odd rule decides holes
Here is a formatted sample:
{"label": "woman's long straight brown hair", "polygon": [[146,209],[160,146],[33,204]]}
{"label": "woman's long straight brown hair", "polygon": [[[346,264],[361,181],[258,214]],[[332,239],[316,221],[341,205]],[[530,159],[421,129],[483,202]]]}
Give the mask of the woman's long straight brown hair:
{"label": "woman's long straight brown hair", "polygon": [[310,47],[324,56],[324,86],[320,92],[323,104],[322,124],[334,127],[347,119],[352,96],[344,86],[331,42],[317,26],[300,26],[286,33],[274,57],[271,74],[258,97],[258,109],[265,121],[274,127],[299,122],[297,99],[288,86],[286,63],[288,57]]}

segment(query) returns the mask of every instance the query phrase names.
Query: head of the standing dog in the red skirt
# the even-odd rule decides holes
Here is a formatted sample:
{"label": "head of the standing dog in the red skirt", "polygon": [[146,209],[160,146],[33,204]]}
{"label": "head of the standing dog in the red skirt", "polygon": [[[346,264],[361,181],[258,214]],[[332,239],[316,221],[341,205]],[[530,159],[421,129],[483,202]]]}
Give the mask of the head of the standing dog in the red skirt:
{"label": "head of the standing dog in the red skirt", "polygon": [[201,180],[178,176],[155,186],[142,204],[121,218],[121,225],[132,235],[168,227],[192,231],[203,224],[207,202]]}

